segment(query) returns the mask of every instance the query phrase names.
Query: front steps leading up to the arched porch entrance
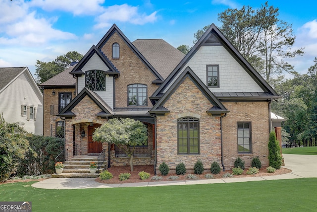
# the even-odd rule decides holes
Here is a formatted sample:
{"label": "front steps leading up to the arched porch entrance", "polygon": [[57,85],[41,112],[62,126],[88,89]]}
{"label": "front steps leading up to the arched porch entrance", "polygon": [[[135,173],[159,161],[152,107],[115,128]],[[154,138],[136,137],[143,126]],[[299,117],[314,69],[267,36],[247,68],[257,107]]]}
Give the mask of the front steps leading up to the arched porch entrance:
{"label": "front steps leading up to the arched porch entrance", "polygon": [[[64,162],[64,169],[61,174],[52,174],[52,177],[57,178],[73,178],[73,177],[99,177],[99,174],[106,167],[106,162],[101,164],[101,168],[97,169],[96,173],[90,173],[90,162],[98,163],[98,156],[96,155],[77,155],[69,161]],[[98,167],[98,164],[97,164]]]}

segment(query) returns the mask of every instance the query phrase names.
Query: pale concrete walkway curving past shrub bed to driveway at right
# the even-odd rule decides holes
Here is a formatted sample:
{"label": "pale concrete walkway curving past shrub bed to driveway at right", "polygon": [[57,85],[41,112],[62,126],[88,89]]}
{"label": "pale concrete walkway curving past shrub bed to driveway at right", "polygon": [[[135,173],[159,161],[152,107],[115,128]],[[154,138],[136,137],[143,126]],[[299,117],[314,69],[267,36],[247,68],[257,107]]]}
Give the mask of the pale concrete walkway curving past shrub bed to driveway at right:
{"label": "pale concrete walkway curving past shrub bed to driveway at right", "polygon": [[262,180],[280,180],[317,177],[317,155],[284,154],[284,168],[291,169],[291,173],[264,176],[264,177],[239,177],[206,180],[181,180],[181,181],[151,181],[141,183],[104,184],[95,181],[95,178],[50,178],[32,184],[35,188],[42,189],[87,189],[87,188],[118,188],[118,187],[145,187],[168,185],[194,185],[211,183],[234,183]]}

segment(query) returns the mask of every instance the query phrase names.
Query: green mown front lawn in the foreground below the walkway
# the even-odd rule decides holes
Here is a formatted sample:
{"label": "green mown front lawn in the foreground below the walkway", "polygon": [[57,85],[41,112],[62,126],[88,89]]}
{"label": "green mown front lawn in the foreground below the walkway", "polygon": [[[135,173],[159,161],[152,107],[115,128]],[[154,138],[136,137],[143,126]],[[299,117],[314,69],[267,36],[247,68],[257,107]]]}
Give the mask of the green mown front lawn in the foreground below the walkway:
{"label": "green mown front lawn in the foreground below the walkway", "polygon": [[31,201],[32,212],[316,211],[317,178],[244,183],[48,190],[0,185],[0,201]]}

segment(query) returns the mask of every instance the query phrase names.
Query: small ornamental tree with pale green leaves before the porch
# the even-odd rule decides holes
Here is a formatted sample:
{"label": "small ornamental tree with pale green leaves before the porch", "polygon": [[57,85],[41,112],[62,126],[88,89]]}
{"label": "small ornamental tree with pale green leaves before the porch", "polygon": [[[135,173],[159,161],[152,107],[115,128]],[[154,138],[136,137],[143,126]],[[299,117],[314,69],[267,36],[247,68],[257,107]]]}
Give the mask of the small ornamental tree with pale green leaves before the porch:
{"label": "small ornamental tree with pale green leaves before the porch", "polygon": [[97,128],[93,141],[114,143],[130,157],[130,167],[133,171],[133,152],[136,145],[148,140],[148,129],[140,121],[133,119],[109,119]]}

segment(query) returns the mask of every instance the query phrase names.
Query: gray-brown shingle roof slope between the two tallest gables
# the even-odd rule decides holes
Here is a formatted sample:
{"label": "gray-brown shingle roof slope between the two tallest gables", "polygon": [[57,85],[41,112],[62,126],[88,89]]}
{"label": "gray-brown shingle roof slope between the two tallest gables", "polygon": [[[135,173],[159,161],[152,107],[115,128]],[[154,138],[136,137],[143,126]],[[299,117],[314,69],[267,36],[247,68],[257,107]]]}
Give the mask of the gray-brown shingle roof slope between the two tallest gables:
{"label": "gray-brown shingle roof slope between the two tallest gables", "polygon": [[163,39],[137,39],[132,44],[166,79],[185,55]]}

